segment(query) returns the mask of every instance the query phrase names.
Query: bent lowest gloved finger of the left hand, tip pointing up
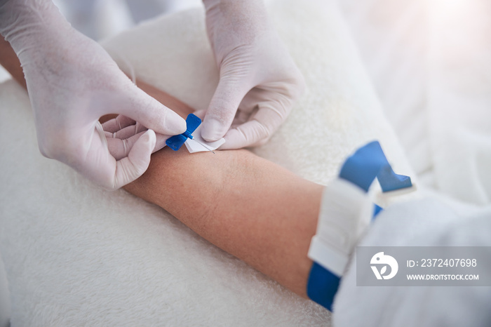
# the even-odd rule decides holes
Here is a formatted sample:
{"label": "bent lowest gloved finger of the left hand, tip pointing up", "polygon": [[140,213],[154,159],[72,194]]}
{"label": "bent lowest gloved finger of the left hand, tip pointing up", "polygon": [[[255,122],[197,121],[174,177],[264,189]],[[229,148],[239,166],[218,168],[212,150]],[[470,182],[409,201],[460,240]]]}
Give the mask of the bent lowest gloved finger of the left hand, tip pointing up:
{"label": "bent lowest gloved finger of the left hand, tip pointing up", "polygon": [[131,147],[128,156],[116,161],[113,188],[119,189],[139,178],[150,164],[150,155],[155,147],[155,132],[149,129]]}

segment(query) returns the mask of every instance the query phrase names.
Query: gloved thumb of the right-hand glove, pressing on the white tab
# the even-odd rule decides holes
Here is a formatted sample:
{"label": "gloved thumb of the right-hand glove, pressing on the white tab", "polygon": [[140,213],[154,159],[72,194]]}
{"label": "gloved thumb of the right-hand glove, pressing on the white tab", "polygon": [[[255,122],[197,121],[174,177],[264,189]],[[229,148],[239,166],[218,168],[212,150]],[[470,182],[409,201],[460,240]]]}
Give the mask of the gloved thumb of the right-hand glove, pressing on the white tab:
{"label": "gloved thumb of the right-hand glove, pressing on the white tab", "polygon": [[231,82],[227,78],[220,78],[201,128],[203,139],[213,142],[220,140],[227,133],[234,121],[238,105],[249,90],[250,88]]}

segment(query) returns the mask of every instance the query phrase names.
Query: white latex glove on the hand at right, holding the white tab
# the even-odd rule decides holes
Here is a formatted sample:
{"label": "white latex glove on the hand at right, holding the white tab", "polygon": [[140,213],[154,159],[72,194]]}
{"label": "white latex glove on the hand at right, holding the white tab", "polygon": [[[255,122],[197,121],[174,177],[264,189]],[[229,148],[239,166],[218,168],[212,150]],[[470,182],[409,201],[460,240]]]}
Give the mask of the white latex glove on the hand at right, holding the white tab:
{"label": "white latex glove on the hand at right, holding the white tab", "polygon": [[207,141],[224,137],[220,149],[262,145],[302,94],[302,74],[271,26],[262,0],[203,4],[220,82],[201,136]]}

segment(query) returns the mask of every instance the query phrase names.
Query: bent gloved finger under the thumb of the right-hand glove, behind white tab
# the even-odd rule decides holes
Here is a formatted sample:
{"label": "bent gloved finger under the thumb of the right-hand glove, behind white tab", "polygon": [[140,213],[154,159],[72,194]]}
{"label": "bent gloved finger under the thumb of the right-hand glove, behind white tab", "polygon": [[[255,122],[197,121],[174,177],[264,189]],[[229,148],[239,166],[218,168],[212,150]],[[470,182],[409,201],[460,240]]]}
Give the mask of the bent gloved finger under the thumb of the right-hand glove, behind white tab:
{"label": "bent gloved finger under the thumb of the right-hand glove, behind white tab", "polygon": [[231,128],[224,136],[225,142],[220,149],[240,149],[263,145],[279,128],[288,116],[289,110],[281,102],[269,101],[260,104],[250,121]]}

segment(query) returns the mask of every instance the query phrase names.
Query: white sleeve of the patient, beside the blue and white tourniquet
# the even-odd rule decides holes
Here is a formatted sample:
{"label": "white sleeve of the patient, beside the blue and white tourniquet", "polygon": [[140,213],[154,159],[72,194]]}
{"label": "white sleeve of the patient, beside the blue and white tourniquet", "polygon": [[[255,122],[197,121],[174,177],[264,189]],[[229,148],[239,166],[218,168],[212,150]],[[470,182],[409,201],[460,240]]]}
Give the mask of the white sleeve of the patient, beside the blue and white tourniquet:
{"label": "white sleeve of the patient, beside the blue and white tourniquet", "polygon": [[[463,219],[435,199],[398,203],[377,216],[359,246],[487,246],[491,258],[490,216]],[[334,326],[491,326],[489,287],[360,287],[357,277],[354,256],[335,297]]]}

